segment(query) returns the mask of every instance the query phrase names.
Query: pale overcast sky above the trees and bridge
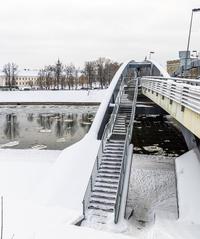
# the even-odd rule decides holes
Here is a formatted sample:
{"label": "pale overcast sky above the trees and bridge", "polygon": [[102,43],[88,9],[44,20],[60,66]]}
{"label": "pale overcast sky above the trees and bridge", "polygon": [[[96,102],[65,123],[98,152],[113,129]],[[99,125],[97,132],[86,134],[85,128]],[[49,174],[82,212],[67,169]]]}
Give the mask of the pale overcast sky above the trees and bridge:
{"label": "pale overcast sky above the trees and bridge", "polygon": [[[163,65],[185,50],[191,9],[199,0],[6,0],[0,7],[0,67],[55,63],[83,66],[100,56],[143,60],[149,51]],[[200,12],[191,50],[200,51]]]}

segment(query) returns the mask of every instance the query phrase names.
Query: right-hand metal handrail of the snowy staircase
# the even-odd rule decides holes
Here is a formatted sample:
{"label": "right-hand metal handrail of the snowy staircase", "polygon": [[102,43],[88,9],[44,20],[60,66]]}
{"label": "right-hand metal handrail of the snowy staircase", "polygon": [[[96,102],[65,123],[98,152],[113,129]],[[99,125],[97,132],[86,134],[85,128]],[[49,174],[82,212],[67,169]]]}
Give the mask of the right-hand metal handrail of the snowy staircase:
{"label": "right-hand metal handrail of the snowy staircase", "polygon": [[134,90],[134,97],[132,102],[132,110],[131,110],[131,117],[130,121],[127,127],[126,137],[125,137],[125,145],[123,148],[123,154],[122,154],[122,166],[120,169],[120,179],[118,182],[117,187],[117,196],[114,206],[114,222],[117,223],[119,219],[119,212],[120,212],[120,206],[121,206],[121,198],[122,198],[122,191],[123,191],[123,185],[124,185],[124,177],[126,172],[126,165],[127,165],[127,157],[128,157],[128,148],[132,136],[132,129],[133,129],[133,122],[134,122],[134,116],[135,116],[135,108],[136,108],[136,101],[137,101],[137,92],[138,92],[138,78],[134,79],[135,81],[135,90]]}

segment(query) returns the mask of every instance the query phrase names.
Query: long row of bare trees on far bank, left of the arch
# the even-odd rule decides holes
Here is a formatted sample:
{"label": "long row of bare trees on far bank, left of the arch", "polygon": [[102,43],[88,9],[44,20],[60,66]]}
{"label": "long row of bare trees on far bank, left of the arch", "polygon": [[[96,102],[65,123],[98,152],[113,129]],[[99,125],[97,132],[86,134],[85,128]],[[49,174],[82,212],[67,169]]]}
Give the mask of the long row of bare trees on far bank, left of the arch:
{"label": "long row of bare trees on far bank, left of the arch", "polygon": [[99,58],[87,61],[83,70],[72,63],[63,65],[60,60],[55,65],[46,66],[39,71],[38,86],[43,89],[77,89],[78,86],[92,89],[105,88],[110,84],[119,63],[110,59]]}

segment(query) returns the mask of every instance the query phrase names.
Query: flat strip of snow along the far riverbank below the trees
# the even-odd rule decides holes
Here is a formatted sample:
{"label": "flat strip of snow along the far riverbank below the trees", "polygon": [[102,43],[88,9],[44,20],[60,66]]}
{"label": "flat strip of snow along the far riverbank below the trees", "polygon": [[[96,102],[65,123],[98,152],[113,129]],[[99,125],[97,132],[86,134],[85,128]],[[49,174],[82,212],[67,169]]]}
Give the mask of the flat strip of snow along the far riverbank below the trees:
{"label": "flat strip of snow along the far riverbank below the trees", "polygon": [[103,90],[1,91],[0,103],[101,103]]}

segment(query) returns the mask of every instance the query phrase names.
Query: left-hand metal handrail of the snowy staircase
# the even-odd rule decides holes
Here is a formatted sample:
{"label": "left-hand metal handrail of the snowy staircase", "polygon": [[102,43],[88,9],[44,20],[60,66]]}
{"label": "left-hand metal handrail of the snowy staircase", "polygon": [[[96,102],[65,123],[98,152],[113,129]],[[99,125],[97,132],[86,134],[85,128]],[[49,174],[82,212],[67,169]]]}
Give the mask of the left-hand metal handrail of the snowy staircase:
{"label": "left-hand metal handrail of the snowy staircase", "polygon": [[100,146],[99,146],[99,150],[98,150],[98,153],[97,153],[97,156],[96,156],[96,159],[95,159],[95,162],[94,162],[94,166],[93,166],[93,169],[92,169],[92,172],[91,172],[91,175],[90,175],[90,179],[89,179],[88,185],[86,187],[86,191],[85,191],[84,198],[83,198],[83,201],[82,201],[84,218],[86,217],[86,209],[88,208],[89,199],[90,199],[90,196],[91,196],[91,192],[93,190],[95,178],[96,178],[96,175],[97,175],[97,172],[98,172],[98,169],[99,169],[99,165],[101,163],[100,160],[101,160],[101,155],[104,152],[105,142],[109,138],[109,136],[111,135],[111,133],[113,131],[114,123],[115,123],[117,113],[118,113],[118,110],[119,110],[119,104],[120,104],[120,101],[121,101],[121,96],[122,96],[122,93],[123,93],[123,88],[124,88],[124,77],[122,78],[122,81],[121,81],[121,84],[120,84],[120,87],[119,87],[119,91],[117,93],[114,109],[113,109],[112,114],[110,116],[110,119],[109,119],[108,123],[106,124],[106,127],[103,131],[103,135],[102,135],[101,143],[100,143]]}

